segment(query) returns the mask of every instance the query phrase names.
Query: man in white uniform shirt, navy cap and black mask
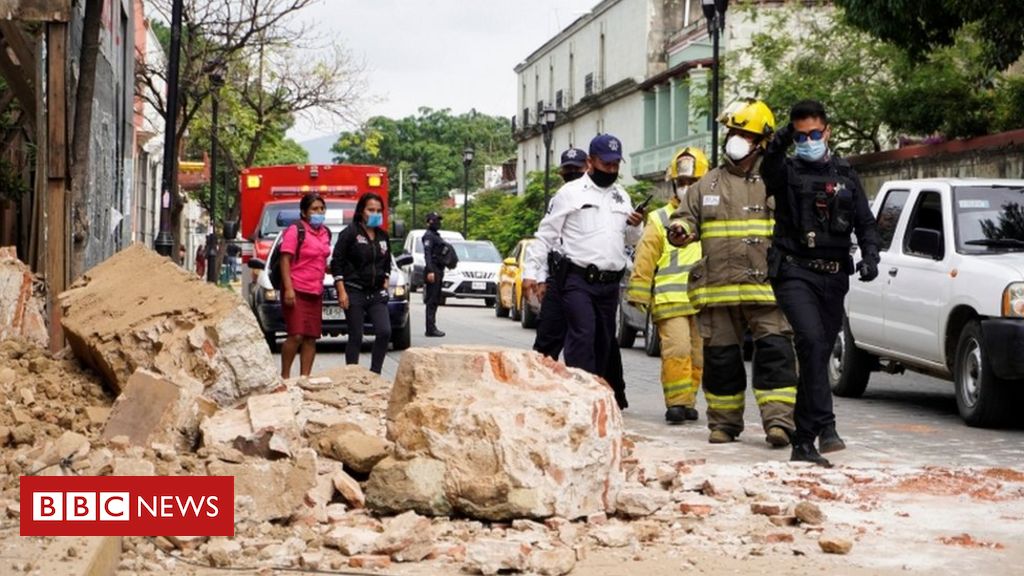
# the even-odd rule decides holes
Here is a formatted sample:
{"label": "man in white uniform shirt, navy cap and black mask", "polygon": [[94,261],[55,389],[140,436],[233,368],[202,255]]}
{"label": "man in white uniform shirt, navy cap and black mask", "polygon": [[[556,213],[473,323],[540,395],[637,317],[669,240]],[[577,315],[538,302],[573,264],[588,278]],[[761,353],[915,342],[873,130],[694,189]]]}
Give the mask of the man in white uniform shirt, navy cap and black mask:
{"label": "man in white uniform shirt, navy cap and black mask", "polygon": [[[565,314],[565,365],[609,383],[618,347],[614,332],[626,247],[636,244],[643,222],[643,212],[634,210],[629,194],[615,183],[622,159],[623,146],[615,136],[599,134],[591,140],[587,173],[563,184],[552,198],[527,251],[523,275],[527,296],[543,301],[548,256],[552,251],[563,255],[555,282]],[[615,392],[624,404],[625,390]]]}

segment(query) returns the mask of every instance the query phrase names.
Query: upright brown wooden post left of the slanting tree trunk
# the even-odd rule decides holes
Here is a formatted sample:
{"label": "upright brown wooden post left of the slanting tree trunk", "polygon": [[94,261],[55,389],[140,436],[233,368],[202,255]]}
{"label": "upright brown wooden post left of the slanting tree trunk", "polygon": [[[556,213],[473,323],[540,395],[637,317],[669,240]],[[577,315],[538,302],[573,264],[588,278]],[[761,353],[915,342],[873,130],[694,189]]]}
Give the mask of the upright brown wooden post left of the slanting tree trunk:
{"label": "upright brown wooden post left of the slanting tree trunk", "polygon": [[63,347],[57,296],[68,288],[68,25],[46,25],[46,282],[50,349]]}

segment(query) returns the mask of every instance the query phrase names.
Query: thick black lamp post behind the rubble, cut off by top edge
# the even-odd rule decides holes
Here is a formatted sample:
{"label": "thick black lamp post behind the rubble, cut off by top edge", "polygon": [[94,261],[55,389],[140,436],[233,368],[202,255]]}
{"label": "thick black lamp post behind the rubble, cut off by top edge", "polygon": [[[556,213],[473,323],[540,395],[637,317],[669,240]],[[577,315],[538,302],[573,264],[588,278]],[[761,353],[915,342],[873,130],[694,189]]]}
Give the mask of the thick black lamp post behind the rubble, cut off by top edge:
{"label": "thick black lamp post behind the rubble, cut off by top edge", "polygon": [[178,60],[181,52],[181,4],[174,0],[171,5],[171,45],[167,56],[167,115],[164,125],[164,173],[160,182],[160,234],[153,248],[161,255],[170,257],[174,248],[171,236],[171,182],[177,170],[177,125],[178,125]]}

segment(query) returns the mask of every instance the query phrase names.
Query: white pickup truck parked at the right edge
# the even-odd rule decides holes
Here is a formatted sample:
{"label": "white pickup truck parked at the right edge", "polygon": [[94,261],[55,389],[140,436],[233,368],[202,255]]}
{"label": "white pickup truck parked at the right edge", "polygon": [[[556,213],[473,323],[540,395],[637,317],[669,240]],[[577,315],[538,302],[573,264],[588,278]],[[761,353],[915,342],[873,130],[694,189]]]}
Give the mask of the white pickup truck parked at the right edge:
{"label": "white pickup truck parked at the right edge", "polygon": [[[829,379],[859,397],[876,370],[951,379],[969,425],[1024,409],[1024,180],[886,182],[872,205],[879,277],[851,282]],[[855,256],[856,258],[856,256]]]}

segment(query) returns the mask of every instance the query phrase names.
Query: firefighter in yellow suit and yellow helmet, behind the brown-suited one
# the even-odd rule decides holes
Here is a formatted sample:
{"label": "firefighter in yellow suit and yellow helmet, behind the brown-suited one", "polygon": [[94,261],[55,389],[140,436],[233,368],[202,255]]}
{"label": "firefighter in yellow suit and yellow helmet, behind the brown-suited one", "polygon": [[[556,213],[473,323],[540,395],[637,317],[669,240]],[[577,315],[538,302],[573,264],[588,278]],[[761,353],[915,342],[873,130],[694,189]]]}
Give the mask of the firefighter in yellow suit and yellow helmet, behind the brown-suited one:
{"label": "firefighter in yellow suit and yellow helmet, behind the brown-suited one", "polygon": [[668,204],[647,216],[626,292],[630,302],[649,311],[660,337],[662,392],[670,424],[697,419],[694,405],[703,357],[697,311],[687,295],[689,271],[701,256],[700,243],[676,248],[667,231],[689,187],[707,172],[708,157],[698,148],[685,148],[673,157],[666,175],[674,193]]}

